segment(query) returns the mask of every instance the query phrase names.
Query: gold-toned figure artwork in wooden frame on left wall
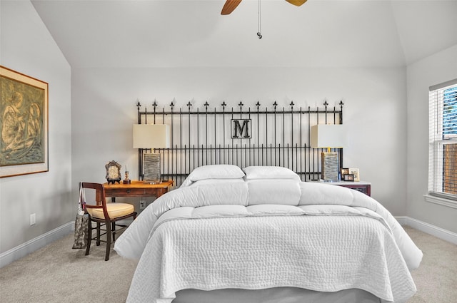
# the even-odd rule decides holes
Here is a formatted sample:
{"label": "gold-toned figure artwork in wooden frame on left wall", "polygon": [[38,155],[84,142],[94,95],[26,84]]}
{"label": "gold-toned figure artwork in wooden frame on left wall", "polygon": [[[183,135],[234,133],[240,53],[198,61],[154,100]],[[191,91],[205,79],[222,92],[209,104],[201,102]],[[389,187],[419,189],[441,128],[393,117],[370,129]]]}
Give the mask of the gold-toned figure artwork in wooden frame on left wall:
{"label": "gold-toned figure artwork in wooden frame on left wall", "polygon": [[0,66],[0,178],[49,170],[48,83]]}

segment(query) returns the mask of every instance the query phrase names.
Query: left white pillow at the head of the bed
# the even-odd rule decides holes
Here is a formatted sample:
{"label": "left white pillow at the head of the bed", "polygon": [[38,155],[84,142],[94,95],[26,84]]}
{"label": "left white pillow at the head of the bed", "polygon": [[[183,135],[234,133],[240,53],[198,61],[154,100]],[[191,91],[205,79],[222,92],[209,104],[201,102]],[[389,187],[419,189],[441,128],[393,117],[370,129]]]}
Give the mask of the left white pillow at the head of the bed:
{"label": "left white pillow at the head of the bed", "polygon": [[192,170],[188,178],[192,182],[196,182],[206,179],[237,179],[243,177],[243,170],[236,165],[216,164],[200,166]]}

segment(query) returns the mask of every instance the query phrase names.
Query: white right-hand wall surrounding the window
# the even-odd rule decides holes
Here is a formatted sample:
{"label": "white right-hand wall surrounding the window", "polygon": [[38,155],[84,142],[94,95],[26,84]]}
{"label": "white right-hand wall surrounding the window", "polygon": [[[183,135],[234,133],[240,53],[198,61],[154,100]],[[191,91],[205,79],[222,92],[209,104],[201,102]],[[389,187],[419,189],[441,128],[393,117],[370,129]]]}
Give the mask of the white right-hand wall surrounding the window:
{"label": "white right-hand wall surrounding the window", "polygon": [[457,78],[457,46],[411,64],[408,74],[407,215],[457,232],[457,209],[426,202],[428,188],[428,88]]}

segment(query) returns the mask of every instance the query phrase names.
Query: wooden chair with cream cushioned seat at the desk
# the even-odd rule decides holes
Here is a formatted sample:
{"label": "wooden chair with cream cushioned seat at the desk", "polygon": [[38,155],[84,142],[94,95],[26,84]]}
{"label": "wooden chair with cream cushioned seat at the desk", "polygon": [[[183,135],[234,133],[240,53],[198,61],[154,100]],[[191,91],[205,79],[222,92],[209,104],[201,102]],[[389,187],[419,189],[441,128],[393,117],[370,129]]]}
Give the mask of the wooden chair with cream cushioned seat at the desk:
{"label": "wooden chair with cream cushioned seat at the desk", "polygon": [[[129,217],[134,217],[135,220],[134,205],[116,202],[107,203],[103,184],[83,182],[81,187],[81,206],[89,214],[89,239],[86,246],[86,255],[89,255],[92,240],[96,240],[97,246],[100,245],[100,242],[106,242],[105,261],[108,261],[109,252],[111,251],[111,237],[112,242],[116,241],[116,232],[121,232],[127,227],[127,225],[116,224],[116,222]],[[91,203],[86,202],[86,196],[90,196]],[[95,237],[92,236],[92,222],[96,222]],[[116,227],[121,228],[116,230]],[[101,240],[103,235],[106,235],[106,240]]]}

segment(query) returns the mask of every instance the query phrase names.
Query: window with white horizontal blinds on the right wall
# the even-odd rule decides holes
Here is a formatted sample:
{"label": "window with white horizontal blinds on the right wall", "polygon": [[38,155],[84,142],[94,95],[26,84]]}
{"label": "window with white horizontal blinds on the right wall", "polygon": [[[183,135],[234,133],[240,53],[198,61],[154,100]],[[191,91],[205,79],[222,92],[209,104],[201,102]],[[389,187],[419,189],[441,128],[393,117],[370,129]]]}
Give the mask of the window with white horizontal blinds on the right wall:
{"label": "window with white horizontal blinds on the right wall", "polygon": [[457,79],[429,93],[428,194],[457,203]]}

